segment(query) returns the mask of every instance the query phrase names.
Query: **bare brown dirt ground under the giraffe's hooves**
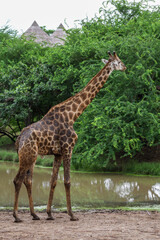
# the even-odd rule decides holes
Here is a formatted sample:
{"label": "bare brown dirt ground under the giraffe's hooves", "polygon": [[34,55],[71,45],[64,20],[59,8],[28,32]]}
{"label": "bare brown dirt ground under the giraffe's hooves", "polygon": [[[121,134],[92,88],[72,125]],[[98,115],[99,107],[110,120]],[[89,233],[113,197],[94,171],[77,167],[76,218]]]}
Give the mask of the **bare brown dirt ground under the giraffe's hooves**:
{"label": "bare brown dirt ground under the giraffe's hooves", "polygon": [[160,239],[160,212],[87,211],[76,212],[79,221],[72,222],[66,213],[46,213],[33,221],[29,212],[20,212],[21,223],[15,223],[12,212],[0,212],[0,240],[154,240]]}

